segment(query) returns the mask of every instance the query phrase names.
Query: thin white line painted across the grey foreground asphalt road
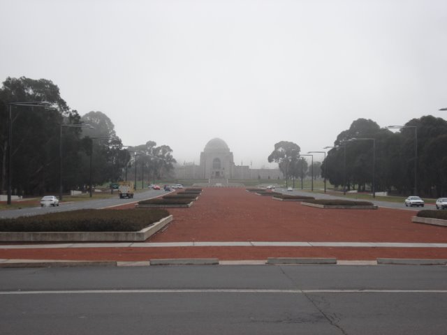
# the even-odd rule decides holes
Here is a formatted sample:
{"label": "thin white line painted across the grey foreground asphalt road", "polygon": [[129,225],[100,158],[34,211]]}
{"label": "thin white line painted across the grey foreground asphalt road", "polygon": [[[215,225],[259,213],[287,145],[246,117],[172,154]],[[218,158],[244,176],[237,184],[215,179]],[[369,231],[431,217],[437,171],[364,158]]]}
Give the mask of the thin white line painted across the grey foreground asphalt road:
{"label": "thin white line painted across the grey foreground asphalt road", "polygon": [[117,293],[447,293],[447,290],[45,290],[45,291],[3,291],[0,295],[79,295],[79,294],[117,294]]}

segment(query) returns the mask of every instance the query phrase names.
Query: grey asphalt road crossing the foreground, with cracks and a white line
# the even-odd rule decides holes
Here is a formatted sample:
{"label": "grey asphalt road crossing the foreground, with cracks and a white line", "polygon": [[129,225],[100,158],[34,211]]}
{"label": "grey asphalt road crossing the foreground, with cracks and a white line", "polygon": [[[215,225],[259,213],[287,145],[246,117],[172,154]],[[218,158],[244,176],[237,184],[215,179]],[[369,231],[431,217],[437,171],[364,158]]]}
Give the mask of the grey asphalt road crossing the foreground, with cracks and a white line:
{"label": "grey asphalt road crossing the foreground, with cracks and a white line", "polygon": [[446,334],[447,267],[0,269],[1,334]]}

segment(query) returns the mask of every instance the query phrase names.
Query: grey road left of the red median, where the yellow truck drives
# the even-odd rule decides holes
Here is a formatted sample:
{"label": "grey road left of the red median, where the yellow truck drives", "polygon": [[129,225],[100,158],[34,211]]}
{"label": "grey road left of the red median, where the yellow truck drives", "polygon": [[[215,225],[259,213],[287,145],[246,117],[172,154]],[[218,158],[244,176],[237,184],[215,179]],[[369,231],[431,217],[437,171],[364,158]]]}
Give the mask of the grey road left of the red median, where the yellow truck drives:
{"label": "grey road left of the red median, where the yellow truck drives", "polygon": [[73,211],[75,209],[99,209],[105,207],[117,206],[119,204],[127,204],[129,202],[137,202],[144,199],[155,198],[159,195],[167,194],[166,191],[147,190],[145,192],[135,193],[133,199],[119,199],[118,193],[115,198],[86,200],[77,202],[62,202],[59,207],[29,207],[22,209],[10,209],[0,211],[0,218],[17,218],[18,216],[31,216],[52,213],[56,211]]}

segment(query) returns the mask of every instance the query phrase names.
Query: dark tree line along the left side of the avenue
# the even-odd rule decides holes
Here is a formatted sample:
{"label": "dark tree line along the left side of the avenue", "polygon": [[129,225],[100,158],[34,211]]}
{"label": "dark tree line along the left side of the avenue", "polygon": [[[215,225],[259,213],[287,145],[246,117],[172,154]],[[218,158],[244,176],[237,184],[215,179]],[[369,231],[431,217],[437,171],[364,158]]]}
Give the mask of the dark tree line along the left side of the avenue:
{"label": "dark tree line along the left side of the avenue", "polygon": [[[51,107],[15,103],[41,102]],[[0,191],[6,193],[8,178],[8,119],[12,119],[11,188],[17,195],[43,195],[59,190],[83,190],[92,184],[132,180],[152,173],[161,178],[173,170],[168,145],[156,142],[124,147],[115,126],[103,112],[82,117],[61,98],[59,87],[50,80],[8,77],[0,89]],[[82,125],[82,126],[80,126]],[[85,128],[90,125],[92,128]],[[63,148],[60,155],[59,149]],[[60,160],[60,156],[62,160]],[[60,165],[62,163],[62,165]],[[91,166],[91,169],[90,169]],[[129,170],[129,171],[128,171]],[[126,172],[129,172],[127,174]]]}

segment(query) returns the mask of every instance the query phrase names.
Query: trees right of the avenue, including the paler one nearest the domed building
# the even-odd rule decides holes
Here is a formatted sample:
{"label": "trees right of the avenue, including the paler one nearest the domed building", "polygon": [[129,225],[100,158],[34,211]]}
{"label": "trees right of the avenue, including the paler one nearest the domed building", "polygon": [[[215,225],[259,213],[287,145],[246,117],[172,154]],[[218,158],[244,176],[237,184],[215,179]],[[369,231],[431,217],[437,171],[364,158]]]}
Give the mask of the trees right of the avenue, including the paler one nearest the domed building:
{"label": "trees right of the avenue, including the paler one nearest the domed building", "polygon": [[[441,197],[447,194],[447,121],[427,115],[381,128],[371,119],[357,119],[337,136],[321,164],[321,176],[346,191],[387,191],[402,195]],[[275,144],[269,162],[279,163],[286,179],[300,177],[300,147]],[[297,165],[298,164],[298,165]],[[305,171],[307,172],[307,165]]]}

